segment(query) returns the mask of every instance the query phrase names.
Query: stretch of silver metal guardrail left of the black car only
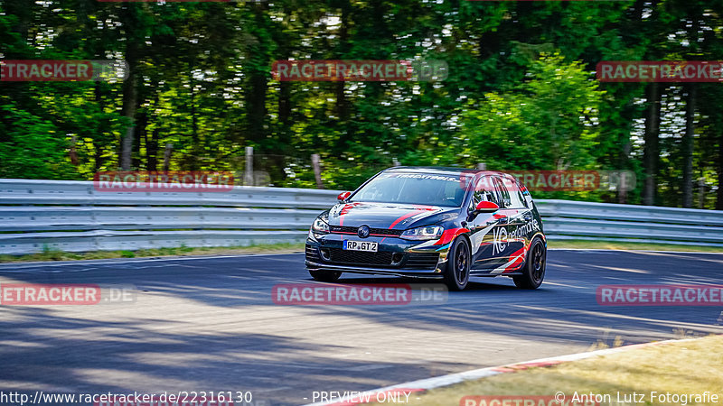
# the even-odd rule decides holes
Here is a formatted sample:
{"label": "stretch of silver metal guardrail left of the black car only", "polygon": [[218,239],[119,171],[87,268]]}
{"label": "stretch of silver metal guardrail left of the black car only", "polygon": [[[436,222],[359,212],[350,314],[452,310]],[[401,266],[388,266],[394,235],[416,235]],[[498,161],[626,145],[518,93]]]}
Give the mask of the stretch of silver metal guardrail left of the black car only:
{"label": "stretch of silver metal guardrail left of the black car only", "polygon": [[90,181],[0,180],[0,254],[301,242],[337,194],[257,187],[107,192]]}

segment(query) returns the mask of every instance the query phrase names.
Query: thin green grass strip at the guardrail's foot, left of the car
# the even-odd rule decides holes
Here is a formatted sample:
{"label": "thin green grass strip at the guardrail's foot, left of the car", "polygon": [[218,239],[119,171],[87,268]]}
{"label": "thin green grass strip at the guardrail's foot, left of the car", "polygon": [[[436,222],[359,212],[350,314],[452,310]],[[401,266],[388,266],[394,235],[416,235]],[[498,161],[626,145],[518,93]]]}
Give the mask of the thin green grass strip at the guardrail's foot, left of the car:
{"label": "thin green grass strip at the guardrail's foot, left of the car", "polygon": [[31,261],[74,261],[110,258],[144,258],[159,256],[191,256],[191,255],[230,255],[230,254],[291,254],[304,251],[304,244],[273,244],[248,245],[229,247],[191,248],[154,248],[137,251],[95,251],[90,253],[66,253],[57,250],[44,250],[38,254],[3,255],[0,263],[31,262]]}

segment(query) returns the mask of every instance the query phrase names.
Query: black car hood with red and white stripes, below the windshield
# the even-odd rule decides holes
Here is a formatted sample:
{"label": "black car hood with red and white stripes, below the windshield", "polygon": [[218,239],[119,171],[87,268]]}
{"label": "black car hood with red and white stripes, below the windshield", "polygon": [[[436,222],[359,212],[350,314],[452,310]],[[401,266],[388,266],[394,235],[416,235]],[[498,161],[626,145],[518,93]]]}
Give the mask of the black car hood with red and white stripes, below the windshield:
{"label": "black car hood with red and white stripes, below the windshield", "polygon": [[405,230],[456,217],[459,208],[394,203],[339,203],[329,210],[330,226],[370,226]]}

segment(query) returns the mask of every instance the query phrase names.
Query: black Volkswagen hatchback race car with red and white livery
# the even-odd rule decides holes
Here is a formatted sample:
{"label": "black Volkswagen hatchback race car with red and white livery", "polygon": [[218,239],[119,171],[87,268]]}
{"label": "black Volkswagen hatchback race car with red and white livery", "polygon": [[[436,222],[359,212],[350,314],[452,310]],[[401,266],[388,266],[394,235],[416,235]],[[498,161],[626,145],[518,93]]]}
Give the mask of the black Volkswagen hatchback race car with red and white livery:
{"label": "black Volkswagen hatchback race car with red and white livery", "polygon": [[343,272],[442,280],[509,276],[537,289],[547,240],[530,191],[512,175],[461,168],[394,167],[338,203],[309,229],[305,264],[317,281]]}

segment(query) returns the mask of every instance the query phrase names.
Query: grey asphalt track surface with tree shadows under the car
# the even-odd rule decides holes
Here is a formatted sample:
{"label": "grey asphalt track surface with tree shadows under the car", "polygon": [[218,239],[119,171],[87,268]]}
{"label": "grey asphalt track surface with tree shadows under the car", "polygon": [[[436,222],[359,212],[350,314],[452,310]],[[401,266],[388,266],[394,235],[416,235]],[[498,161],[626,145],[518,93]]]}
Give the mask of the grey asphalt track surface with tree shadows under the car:
{"label": "grey asphalt track surface with tree shadows under the car", "polygon": [[555,250],[537,291],[518,290],[508,278],[477,278],[441,303],[274,304],[274,285],[311,282],[303,261],[303,254],[283,254],[0,264],[0,283],[137,290],[133,302],[0,307],[0,390],[250,391],[257,404],[305,404],[315,391],[370,390],[615,339],[723,333],[721,307],[596,301],[601,284],[719,284],[723,254]]}

